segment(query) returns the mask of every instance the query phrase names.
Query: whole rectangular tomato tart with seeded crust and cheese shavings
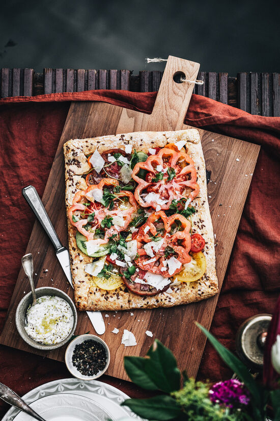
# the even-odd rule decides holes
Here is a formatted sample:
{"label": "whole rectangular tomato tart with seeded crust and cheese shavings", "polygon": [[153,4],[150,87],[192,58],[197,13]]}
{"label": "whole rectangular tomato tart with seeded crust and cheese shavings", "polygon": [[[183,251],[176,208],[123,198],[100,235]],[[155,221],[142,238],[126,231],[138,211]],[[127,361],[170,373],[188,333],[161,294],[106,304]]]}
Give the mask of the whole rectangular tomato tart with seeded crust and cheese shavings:
{"label": "whole rectangular tomato tart with seeded crust and cheese shavings", "polygon": [[79,310],[171,307],[218,292],[196,129],[74,139],[64,155]]}

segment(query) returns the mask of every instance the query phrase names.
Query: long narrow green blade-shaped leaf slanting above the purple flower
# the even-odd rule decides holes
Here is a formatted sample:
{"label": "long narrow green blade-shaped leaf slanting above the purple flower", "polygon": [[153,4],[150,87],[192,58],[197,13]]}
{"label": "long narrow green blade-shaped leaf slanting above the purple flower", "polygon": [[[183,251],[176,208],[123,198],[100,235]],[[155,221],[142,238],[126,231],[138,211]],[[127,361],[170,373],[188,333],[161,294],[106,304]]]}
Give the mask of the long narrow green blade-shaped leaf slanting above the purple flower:
{"label": "long narrow green blade-shaped leaf slanting above the purple flower", "polygon": [[207,329],[201,326],[199,323],[195,324],[203,331],[207,336],[209,341],[214,346],[215,350],[221,357],[221,359],[237,374],[237,376],[242,380],[247,389],[252,395],[253,411],[255,414],[256,421],[264,419],[264,397],[260,387],[257,385],[251,374],[248,372],[248,369],[242,361],[240,361],[231,351],[229,351],[225,346],[223,346]]}

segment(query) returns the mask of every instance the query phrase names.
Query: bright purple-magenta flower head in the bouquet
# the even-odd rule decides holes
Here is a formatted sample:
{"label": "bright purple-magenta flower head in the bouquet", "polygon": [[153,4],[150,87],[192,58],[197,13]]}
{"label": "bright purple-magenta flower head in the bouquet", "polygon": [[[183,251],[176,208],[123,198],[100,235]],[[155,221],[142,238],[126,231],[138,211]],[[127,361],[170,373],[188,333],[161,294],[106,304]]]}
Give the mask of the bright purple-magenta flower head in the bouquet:
{"label": "bright purple-magenta flower head in the bouquet", "polygon": [[229,408],[240,408],[248,405],[250,394],[247,388],[239,380],[231,379],[225,382],[215,383],[209,390],[209,398],[213,403],[226,405]]}

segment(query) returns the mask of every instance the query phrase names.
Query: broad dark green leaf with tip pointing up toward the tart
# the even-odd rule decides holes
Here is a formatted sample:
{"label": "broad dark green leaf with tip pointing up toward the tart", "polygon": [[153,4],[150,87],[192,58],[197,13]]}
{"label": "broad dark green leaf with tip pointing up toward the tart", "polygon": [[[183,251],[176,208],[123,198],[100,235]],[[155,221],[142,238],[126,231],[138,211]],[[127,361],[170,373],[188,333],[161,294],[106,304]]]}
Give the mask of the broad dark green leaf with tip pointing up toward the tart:
{"label": "broad dark green leaf with tip pointing up toward the tart", "polygon": [[181,374],[172,352],[156,339],[147,356],[146,373],[158,389],[166,393],[180,389]]}

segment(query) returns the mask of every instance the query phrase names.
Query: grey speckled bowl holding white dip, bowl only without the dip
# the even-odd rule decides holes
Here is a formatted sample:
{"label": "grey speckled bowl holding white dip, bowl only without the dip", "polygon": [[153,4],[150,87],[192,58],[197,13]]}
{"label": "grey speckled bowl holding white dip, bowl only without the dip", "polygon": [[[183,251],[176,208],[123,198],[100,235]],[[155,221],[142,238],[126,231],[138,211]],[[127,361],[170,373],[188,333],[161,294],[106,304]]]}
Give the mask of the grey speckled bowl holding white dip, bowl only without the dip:
{"label": "grey speckled bowl holding white dip, bowl only without the dip", "polygon": [[36,342],[29,335],[27,335],[27,333],[24,329],[24,327],[25,327],[25,314],[26,314],[26,311],[29,308],[30,304],[32,304],[32,302],[33,302],[32,292],[30,291],[19,302],[19,304],[17,306],[17,309],[16,309],[16,327],[17,327],[18,333],[20,334],[22,339],[26,343],[28,343],[30,346],[33,346],[33,348],[37,348],[38,350],[42,350],[42,351],[55,350],[55,349],[60,348],[61,346],[65,345],[65,343],[67,343],[69,341],[69,339],[71,338],[71,336],[75,332],[75,329],[76,329],[76,326],[77,326],[76,307],[75,307],[73,301],[70,299],[70,297],[65,292],[61,291],[60,289],[52,288],[52,287],[42,287],[42,288],[37,288],[35,290],[35,292],[36,292],[37,298],[39,298],[43,295],[55,295],[55,296],[58,296],[58,297],[62,298],[63,300],[65,300],[69,304],[69,306],[71,307],[73,316],[74,316],[74,323],[73,323],[73,327],[71,329],[71,332],[69,333],[69,335],[64,340],[62,340],[59,343],[55,343],[53,345],[44,345],[43,343]]}

